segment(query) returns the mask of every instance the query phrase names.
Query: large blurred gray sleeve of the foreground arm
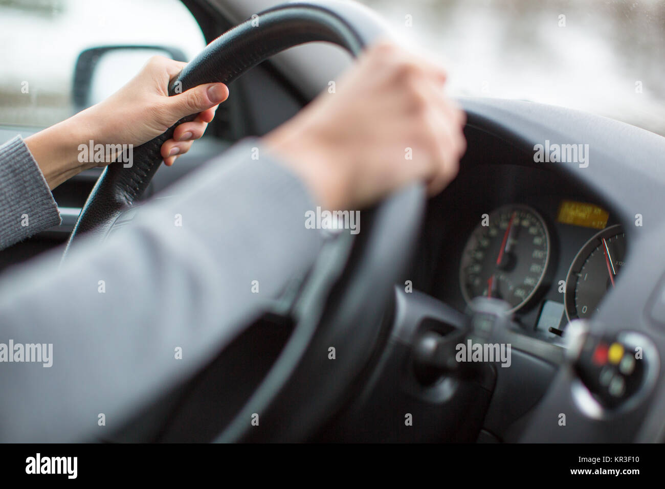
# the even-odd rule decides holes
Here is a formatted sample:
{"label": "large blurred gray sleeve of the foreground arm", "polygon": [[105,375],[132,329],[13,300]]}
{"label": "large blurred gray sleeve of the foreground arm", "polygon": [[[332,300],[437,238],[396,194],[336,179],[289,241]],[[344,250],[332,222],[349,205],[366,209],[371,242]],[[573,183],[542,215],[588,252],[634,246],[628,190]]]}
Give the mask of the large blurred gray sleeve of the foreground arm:
{"label": "large blurred gray sleeve of the foreground arm", "polygon": [[[62,266],[54,249],[0,275],[0,442],[120,430],[213,361],[323,246],[305,226],[314,196],[260,140],[168,192],[106,242],[82,236]],[[8,361],[10,342],[44,356]]]}

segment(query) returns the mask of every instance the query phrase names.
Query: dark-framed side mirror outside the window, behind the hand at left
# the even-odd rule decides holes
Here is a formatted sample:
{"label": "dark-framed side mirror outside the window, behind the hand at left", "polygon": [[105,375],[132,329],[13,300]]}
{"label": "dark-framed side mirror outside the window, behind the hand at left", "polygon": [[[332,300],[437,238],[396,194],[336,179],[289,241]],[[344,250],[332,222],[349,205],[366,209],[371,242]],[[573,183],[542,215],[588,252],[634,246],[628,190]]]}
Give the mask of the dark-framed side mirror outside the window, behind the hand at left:
{"label": "dark-framed side mirror outside the window, behind the hand at left", "polygon": [[180,49],[164,46],[99,46],[82,51],[76,59],[72,86],[76,112],[118,90],[155,55],[187,61]]}

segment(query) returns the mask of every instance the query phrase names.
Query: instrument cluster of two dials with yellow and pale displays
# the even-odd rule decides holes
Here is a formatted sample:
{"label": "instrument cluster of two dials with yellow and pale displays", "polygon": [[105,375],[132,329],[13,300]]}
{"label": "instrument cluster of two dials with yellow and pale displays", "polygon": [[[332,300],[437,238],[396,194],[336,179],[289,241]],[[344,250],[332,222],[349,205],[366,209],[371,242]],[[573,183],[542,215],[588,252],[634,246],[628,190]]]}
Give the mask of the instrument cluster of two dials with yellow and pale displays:
{"label": "instrument cluster of two dials with yellow and pale displays", "polygon": [[563,199],[548,214],[521,203],[481,214],[462,249],[459,281],[467,303],[503,299],[527,325],[560,336],[569,321],[591,317],[620,279],[626,235],[596,204]]}

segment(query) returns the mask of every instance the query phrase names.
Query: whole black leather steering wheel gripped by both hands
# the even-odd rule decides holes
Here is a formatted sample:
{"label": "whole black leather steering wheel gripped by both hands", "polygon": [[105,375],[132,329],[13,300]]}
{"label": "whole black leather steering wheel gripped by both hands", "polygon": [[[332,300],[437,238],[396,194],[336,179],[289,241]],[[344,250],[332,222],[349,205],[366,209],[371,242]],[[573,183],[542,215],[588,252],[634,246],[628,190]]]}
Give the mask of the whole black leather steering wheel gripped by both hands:
{"label": "whole black leather steering wheel gripped by both hands", "polygon": [[[334,43],[356,57],[385,33],[378,17],[356,3],[281,5],[215,39],[171,82],[169,94],[176,87],[180,92],[209,82],[228,84],[272,55],[312,41]],[[162,144],[178,124],[195,117],[135,148],[132,167],[106,167],[78,217],[65,259],[81,236],[108,235],[148,188],[162,164]],[[423,209],[423,186],[409,186],[362,213],[362,234],[344,234],[323,249],[293,301],[291,338],[219,440],[303,440],[334,412],[379,343],[392,284],[410,259]],[[331,346],[338,352],[334,361],[328,359]],[[251,426],[253,413],[260,413],[260,426]]]}

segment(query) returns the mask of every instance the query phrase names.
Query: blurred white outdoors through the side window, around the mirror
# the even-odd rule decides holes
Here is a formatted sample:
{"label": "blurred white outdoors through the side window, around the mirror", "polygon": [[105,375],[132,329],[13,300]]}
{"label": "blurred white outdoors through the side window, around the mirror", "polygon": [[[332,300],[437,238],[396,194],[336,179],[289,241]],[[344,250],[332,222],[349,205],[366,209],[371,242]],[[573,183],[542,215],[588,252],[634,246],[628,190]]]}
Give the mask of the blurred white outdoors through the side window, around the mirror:
{"label": "blurred white outdoors through the side window, around the mirror", "polygon": [[178,47],[191,59],[205,39],[179,0],[0,0],[0,124],[42,128],[71,116],[78,54],[132,44]]}

